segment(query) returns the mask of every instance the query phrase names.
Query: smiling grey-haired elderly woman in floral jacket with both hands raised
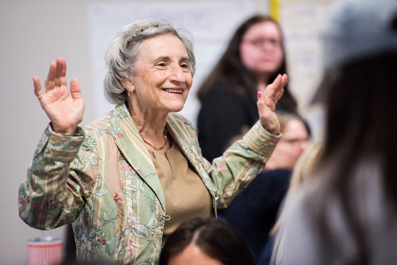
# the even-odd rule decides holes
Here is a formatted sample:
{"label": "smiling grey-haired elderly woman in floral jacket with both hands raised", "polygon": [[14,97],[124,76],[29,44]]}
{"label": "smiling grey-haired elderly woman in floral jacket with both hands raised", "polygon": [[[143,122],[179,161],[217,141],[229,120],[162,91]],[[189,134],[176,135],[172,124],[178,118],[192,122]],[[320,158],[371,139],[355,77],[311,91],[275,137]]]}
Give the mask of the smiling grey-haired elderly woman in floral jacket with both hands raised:
{"label": "smiling grey-haired elderly woman in floral jacket with both hands raised", "polygon": [[[286,75],[258,93],[260,120],[210,164],[182,110],[195,71],[192,43],[165,22],[125,26],[106,52],[105,91],[115,109],[84,128],[77,79],[52,62],[34,91],[51,120],[27,180],[19,215],[30,226],[73,223],[78,260],[154,264],[183,221],[216,216],[265,167],[280,136],[274,114]],[[222,100],[222,99],[219,99]]]}

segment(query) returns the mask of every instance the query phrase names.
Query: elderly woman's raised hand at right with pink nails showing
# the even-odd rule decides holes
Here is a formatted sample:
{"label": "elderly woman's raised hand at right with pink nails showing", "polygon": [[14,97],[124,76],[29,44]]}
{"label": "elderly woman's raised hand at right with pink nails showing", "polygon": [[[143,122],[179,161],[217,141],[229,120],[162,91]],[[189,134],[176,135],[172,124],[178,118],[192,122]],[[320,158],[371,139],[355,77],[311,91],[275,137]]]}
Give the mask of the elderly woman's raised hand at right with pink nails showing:
{"label": "elderly woman's raised hand at right with pink nails showing", "polygon": [[287,81],[288,76],[285,73],[279,74],[271,84],[266,86],[265,91],[258,92],[259,120],[264,129],[274,135],[280,132],[280,123],[274,111],[278,100],[284,93],[284,86]]}

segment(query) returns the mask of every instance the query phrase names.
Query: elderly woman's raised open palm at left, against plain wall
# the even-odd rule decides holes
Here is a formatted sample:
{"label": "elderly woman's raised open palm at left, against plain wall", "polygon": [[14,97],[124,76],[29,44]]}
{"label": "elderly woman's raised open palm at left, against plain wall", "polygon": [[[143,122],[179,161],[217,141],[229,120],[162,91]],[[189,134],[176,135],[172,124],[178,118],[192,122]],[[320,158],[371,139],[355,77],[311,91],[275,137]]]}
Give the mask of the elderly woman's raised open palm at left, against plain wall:
{"label": "elderly woman's raised open palm at left, against plain wall", "polygon": [[70,95],[67,91],[66,61],[58,58],[51,62],[45,81],[46,91],[41,90],[40,80],[33,76],[34,93],[40,100],[41,107],[47,113],[54,132],[73,134],[83,119],[84,101],[81,98],[77,78],[70,81]]}

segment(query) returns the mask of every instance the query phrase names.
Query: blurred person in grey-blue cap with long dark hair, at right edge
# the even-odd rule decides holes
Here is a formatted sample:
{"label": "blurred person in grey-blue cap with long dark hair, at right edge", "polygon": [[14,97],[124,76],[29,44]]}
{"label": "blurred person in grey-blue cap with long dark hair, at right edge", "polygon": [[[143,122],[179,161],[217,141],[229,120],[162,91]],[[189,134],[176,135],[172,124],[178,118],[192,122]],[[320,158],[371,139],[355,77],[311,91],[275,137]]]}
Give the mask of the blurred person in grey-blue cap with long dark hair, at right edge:
{"label": "blurred person in grey-blue cap with long dark hair, at right edge", "polygon": [[397,1],[341,1],[331,17],[324,151],[291,198],[274,264],[396,264]]}

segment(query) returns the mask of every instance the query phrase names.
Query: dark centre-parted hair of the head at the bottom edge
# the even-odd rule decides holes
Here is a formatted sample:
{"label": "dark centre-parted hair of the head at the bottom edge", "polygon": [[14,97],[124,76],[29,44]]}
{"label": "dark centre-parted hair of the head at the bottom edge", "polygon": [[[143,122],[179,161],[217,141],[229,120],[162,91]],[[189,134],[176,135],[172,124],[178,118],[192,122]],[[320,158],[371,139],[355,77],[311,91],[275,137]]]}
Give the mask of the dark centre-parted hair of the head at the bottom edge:
{"label": "dark centre-parted hair of the head at the bottom edge", "polygon": [[256,264],[241,236],[227,222],[196,217],[181,224],[171,234],[161,252],[160,265],[167,265],[171,258],[192,243],[224,265]]}

